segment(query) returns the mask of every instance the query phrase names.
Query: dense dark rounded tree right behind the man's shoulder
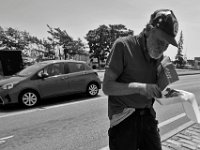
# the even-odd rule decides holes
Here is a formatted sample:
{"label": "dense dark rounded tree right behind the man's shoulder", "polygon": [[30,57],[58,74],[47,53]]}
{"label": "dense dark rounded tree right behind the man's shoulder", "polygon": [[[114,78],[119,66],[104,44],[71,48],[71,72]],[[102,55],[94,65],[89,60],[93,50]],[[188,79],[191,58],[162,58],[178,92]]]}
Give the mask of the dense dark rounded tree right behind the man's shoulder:
{"label": "dense dark rounded tree right behind the man's shoulder", "polygon": [[133,35],[133,31],[122,24],[100,25],[97,29],[90,30],[85,39],[88,41],[90,58],[105,61],[114,41],[120,36]]}

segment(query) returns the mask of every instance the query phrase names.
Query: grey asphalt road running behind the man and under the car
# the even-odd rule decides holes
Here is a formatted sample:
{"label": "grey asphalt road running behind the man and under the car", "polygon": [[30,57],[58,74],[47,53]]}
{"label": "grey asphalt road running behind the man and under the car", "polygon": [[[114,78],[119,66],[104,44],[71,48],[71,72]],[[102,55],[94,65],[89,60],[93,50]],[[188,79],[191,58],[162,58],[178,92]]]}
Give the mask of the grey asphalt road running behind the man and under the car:
{"label": "grey asphalt road running behind the man and under the car", "polygon": [[[170,87],[193,92],[200,104],[199,78],[200,75],[181,76]],[[102,91],[96,98],[75,95],[45,103],[28,110],[16,106],[0,108],[0,150],[98,150],[108,145],[107,98]],[[155,103],[154,107],[161,135],[189,121],[180,115],[180,104]],[[175,116],[179,119],[170,123]]]}

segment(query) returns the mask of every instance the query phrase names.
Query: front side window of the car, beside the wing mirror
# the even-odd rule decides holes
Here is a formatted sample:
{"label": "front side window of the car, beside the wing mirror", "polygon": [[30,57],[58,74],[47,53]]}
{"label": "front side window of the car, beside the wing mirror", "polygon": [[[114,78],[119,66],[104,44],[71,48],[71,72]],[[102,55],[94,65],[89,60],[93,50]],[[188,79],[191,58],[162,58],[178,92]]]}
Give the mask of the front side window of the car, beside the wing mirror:
{"label": "front side window of the car, beside the wing mirror", "polygon": [[64,64],[63,63],[57,63],[52,64],[46,67],[45,71],[48,73],[49,76],[57,76],[64,74]]}

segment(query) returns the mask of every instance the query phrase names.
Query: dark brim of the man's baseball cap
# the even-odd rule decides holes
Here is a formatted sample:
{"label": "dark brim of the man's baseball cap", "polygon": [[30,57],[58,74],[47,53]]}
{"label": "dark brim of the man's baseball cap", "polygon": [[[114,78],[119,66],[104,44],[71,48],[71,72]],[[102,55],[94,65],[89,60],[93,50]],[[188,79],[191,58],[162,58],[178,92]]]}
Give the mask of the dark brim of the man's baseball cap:
{"label": "dark brim of the man's baseball cap", "polygon": [[164,31],[157,29],[157,36],[160,39],[166,40],[169,44],[178,47],[175,37],[170,36],[169,34],[165,33]]}

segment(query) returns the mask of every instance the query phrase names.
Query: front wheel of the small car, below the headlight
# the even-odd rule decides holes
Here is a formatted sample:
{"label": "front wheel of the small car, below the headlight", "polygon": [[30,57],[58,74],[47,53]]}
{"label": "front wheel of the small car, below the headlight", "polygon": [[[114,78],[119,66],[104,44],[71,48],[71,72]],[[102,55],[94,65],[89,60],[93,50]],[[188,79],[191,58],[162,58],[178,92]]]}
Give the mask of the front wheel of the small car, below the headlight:
{"label": "front wheel of the small car, below the headlight", "polygon": [[27,90],[20,95],[20,103],[25,107],[36,106],[38,102],[39,96],[35,91]]}

